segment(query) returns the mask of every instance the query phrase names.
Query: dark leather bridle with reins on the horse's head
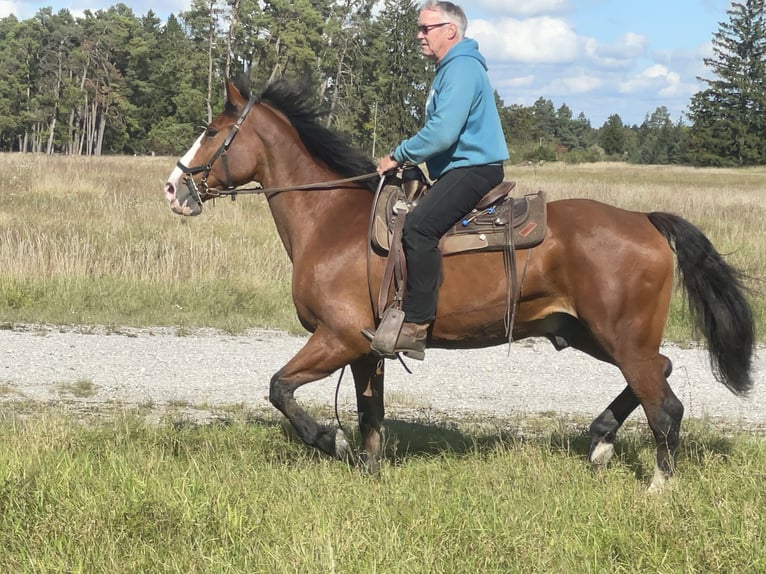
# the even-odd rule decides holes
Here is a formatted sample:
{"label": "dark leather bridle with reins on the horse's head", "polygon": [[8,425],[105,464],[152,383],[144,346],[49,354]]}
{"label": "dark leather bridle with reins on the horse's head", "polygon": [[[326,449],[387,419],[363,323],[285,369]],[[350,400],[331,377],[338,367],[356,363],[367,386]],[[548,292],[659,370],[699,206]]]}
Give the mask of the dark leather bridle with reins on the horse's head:
{"label": "dark leather bridle with reins on the horse's head", "polygon": [[[208,199],[213,199],[216,197],[221,197],[228,195],[231,197],[231,199],[234,199],[239,194],[249,194],[249,193],[264,193],[267,194],[268,197],[271,197],[273,195],[276,195],[277,193],[282,193],[284,191],[306,191],[311,189],[333,189],[339,184],[343,183],[350,183],[353,181],[361,181],[364,179],[372,179],[373,177],[378,177],[378,173],[373,171],[370,173],[365,173],[362,175],[357,175],[354,177],[346,177],[343,179],[334,179],[332,181],[324,181],[324,182],[318,182],[318,183],[307,183],[303,185],[292,185],[287,187],[275,187],[275,188],[269,188],[264,189],[263,187],[250,187],[250,188],[237,188],[232,181],[231,181],[231,173],[229,171],[229,161],[228,156],[226,155],[226,152],[229,151],[229,148],[231,147],[232,142],[234,141],[234,138],[239,133],[239,129],[242,127],[242,124],[245,122],[245,119],[247,118],[247,115],[250,113],[250,110],[253,109],[253,106],[257,103],[259,103],[260,100],[256,97],[251,97],[245,108],[242,110],[242,113],[240,114],[239,118],[237,118],[236,123],[232,126],[231,131],[229,132],[229,135],[226,136],[226,139],[223,140],[220,146],[218,146],[218,149],[215,150],[213,155],[210,157],[210,159],[200,165],[196,166],[187,166],[184,165],[181,160],[179,159],[176,162],[176,166],[178,169],[180,169],[185,175],[184,175],[184,183],[186,184],[186,188],[189,190],[189,195],[191,195],[192,199],[202,207],[202,203]],[[218,160],[221,159],[221,162],[223,163],[223,171],[226,175],[226,183],[223,186],[223,189],[214,189],[211,187],[208,187],[207,185],[207,178],[210,176],[210,172],[213,169],[213,164]],[[197,187],[197,183],[194,181],[194,175],[201,173],[202,179],[199,181],[199,187]]]}

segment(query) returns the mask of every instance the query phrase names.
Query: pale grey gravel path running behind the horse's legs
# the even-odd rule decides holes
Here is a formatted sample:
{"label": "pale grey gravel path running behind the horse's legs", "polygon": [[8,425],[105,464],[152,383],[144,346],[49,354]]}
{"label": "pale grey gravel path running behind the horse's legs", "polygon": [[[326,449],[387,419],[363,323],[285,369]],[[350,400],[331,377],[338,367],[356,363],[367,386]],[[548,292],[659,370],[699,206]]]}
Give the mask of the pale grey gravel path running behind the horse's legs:
{"label": "pale grey gravel path running behind the horse's legs", "polygon": [[[244,404],[268,409],[271,376],[305,343],[305,337],[257,330],[233,336],[201,330],[14,326],[0,331],[0,403],[33,401],[84,410],[132,405],[157,409],[187,405],[195,412]],[[766,425],[766,349],[756,356],[755,389],[747,399],[713,378],[707,355],[675,345],[663,348],[674,372],[670,383],[686,416]],[[556,352],[543,339],[475,351],[429,350],[408,361],[413,374],[389,361],[389,411],[397,405],[442,417],[506,417],[561,413],[593,417],[623,389],[614,367],[573,350]],[[306,404],[332,406],[338,373],[297,393]],[[78,382],[95,385],[78,398]],[[393,403],[393,405],[391,405]],[[393,409],[392,409],[393,406]],[[340,407],[355,412],[350,371]]]}

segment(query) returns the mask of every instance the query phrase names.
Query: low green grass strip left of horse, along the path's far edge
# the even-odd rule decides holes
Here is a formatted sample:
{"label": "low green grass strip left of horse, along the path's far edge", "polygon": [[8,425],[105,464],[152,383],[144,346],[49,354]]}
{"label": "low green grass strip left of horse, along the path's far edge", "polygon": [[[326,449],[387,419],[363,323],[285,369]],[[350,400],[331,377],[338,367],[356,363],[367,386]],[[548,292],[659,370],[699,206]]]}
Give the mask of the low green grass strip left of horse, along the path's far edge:
{"label": "low green grass strip left of horse, along the path's far edge", "polygon": [[225,277],[186,285],[114,276],[9,278],[0,280],[0,309],[3,320],[10,323],[304,332],[295,317],[288,282],[253,287]]}

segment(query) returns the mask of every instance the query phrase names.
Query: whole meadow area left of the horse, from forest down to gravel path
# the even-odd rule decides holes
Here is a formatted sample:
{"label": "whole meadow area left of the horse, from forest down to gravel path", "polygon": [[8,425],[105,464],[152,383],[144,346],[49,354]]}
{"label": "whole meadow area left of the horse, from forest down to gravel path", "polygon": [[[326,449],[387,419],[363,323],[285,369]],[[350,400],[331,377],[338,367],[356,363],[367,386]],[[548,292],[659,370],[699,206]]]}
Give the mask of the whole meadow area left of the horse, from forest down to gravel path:
{"label": "whole meadow area left of the horse, from forest down to gravel path", "polygon": [[265,202],[175,216],[162,194],[173,165],[0,155],[4,319],[296,329]]}

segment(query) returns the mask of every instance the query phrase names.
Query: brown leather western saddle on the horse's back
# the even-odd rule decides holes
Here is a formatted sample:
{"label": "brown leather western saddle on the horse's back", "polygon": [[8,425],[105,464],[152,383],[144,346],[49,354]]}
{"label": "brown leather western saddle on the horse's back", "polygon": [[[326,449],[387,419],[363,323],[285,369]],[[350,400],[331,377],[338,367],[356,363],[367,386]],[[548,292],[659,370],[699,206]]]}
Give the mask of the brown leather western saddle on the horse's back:
{"label": "brown leather western saddle on the horse's back", "polygon": [[[515,187],[515,182],[503,181],[492,188],[474,210],[441,239],[442,255],[501,251],[510,247],[529,249],[540,244],[545,237],[545,193],[538,191],[514,198],[511,193]],[[389,252],[397,219],[403,218],[429,191],[425,184],[414,186],[412,181],[398,179],[383,187],[374,206],[372,243],[376,248]]]}

